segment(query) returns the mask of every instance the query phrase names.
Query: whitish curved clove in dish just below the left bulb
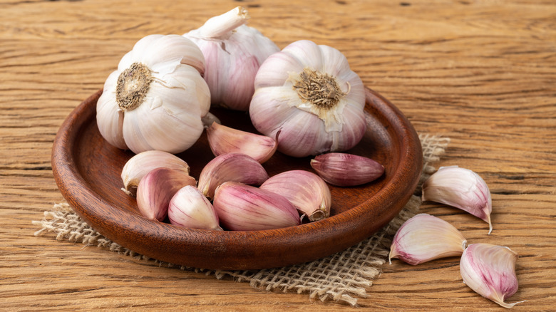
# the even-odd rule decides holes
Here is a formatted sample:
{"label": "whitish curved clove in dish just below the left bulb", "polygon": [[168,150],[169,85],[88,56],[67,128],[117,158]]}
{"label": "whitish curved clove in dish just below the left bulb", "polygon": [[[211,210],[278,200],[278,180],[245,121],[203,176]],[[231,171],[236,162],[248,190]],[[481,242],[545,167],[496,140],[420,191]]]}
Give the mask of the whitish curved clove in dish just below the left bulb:
{"label": "whitish curved clove in dish just below the left bulb", "polygon": [[186,175],[189,175],[190,170],[187,162],[169,152],[160,150],[140,152],[131,157],[130,160],[125,163],[125,166],[123,166],[121,177],[125,190],[135,195],[141,179],[148,174],[150,170],[156,168],[182,170]]}

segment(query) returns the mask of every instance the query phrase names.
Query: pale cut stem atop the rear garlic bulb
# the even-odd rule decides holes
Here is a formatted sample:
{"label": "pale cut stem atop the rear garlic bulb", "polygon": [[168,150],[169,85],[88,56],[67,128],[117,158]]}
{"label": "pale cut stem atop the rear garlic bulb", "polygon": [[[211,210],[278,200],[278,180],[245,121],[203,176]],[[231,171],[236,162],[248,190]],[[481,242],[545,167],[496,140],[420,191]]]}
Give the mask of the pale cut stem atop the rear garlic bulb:
{"label": "pale cut stem atop the rear garlic bulb", "polygon": [[208,19],[199,28],[202,38],[220,38],[230,31],[247,23],[249,14],[242,6],[227,11],[225,14]]}

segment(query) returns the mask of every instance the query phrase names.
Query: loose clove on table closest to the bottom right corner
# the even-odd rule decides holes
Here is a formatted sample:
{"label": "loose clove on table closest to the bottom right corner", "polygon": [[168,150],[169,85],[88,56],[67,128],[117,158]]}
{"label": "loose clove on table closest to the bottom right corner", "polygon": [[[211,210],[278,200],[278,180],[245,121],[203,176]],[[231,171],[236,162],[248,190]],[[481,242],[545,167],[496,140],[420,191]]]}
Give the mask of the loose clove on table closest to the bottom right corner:
{"label": "loose clove on table closest to the bottom right corner", "polygon": [[517,259],[518,254],[505,246],[470,244],[461,256],[461,277],[476,293],[504,308],[511,308],[524,302],[504,302],[518,291]]}

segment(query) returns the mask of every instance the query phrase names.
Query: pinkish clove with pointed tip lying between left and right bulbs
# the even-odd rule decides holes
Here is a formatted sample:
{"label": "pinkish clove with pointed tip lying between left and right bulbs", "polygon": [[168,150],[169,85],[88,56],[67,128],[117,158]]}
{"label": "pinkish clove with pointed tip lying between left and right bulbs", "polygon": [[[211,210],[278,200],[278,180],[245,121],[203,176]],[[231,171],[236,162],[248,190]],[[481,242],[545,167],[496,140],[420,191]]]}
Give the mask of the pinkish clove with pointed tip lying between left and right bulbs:
{"label": "pinkish clove with pointed tip lying between left and right bulbs", "polygon": [[[276,136],[278,137],[278,134]],[[278,147],[272,137],[233,129],[218,123],[212,123],[207,128],[207,138],[210,150],[215,156],[240,152],[260,163],[269,160]]]}

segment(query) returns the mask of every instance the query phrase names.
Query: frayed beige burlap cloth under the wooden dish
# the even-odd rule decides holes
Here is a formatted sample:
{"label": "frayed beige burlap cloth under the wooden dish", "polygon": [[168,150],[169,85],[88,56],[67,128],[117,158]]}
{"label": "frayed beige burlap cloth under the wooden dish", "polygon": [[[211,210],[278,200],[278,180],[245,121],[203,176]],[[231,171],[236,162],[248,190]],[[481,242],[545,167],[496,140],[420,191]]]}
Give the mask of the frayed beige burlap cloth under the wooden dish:
{"label": "frayed beige burlap cloth under the wooden dish", "polygon": [[430,163],[439,160],[450,142],[446,137],[433,135],[419,135],[419,138],[423,146],[423,174],[416,191],[398,217],[356,246],[305,264],[259,271],[212,271],[163,263],[137,254],[105,238],[78,217],[66,202],[55,204],[51,210],[44,212],[42,221],[33,222],[41,227],[35,232],[35,236],[53,232],[58,240],[98,246],[126,256],[151,261],[158,266],[203,272],[217,279],[231,277],[236,281],[249,282],[252,287],[264,288],[267,291],[309,293],[311,299],[342,301],[355,306],[356,297],[366,297],[366,288],[371,286],[372,280],[378,279],[381,266],[388,258],[393,235],[403,222],[416,214],[421,206],[421,184],[435,171]]}

